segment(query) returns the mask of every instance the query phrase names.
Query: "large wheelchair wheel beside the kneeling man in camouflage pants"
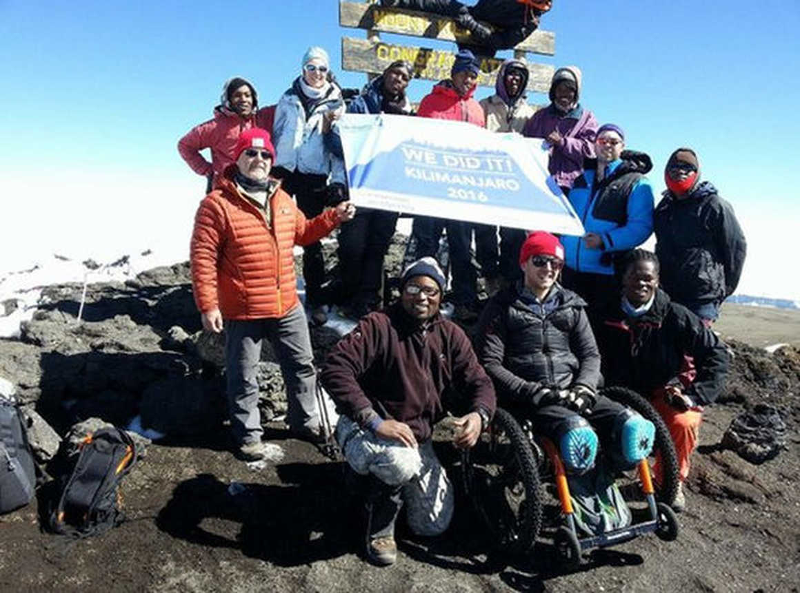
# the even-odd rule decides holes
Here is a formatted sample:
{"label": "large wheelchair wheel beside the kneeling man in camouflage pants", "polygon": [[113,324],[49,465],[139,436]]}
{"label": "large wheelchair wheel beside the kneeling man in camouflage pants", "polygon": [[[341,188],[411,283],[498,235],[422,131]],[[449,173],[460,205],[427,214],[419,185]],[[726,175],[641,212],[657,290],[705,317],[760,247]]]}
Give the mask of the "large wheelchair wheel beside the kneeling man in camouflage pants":
{"label": "large wheelchair wheel beside the kneeling man in camouflage pants", "polygon": [[463,457],[464,488],[494,545],[510,554],[528,551],[542,524],[542,500],[534,453],[514,416],[498,408]]}

